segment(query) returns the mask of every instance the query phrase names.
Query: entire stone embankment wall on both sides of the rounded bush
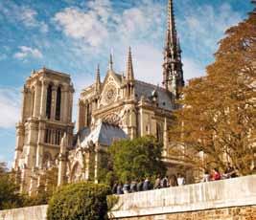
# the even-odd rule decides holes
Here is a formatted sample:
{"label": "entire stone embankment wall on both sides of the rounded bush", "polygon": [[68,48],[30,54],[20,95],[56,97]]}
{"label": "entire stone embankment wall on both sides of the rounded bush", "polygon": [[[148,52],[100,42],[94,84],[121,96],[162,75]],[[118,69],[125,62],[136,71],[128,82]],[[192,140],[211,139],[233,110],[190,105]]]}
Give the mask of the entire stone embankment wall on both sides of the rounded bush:
{"label": "entire stone embankment wall on both sides of the rounded bush", "polygon": [[[46,220],[47,206],[0,211],[0,220]],[[256,220],[256,175],[119,196],[123,220]]]}

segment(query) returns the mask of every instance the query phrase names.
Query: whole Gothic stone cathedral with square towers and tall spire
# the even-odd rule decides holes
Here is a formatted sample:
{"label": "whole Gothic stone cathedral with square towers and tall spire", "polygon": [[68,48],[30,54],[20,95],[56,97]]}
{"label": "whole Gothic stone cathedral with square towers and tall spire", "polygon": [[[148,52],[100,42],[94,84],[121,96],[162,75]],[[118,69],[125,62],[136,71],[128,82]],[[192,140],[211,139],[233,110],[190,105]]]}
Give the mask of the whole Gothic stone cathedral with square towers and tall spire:
{"label": "whole Gothic stone cathedral with square towers and tall spire", "polygon": [[13,168],[21,190],[33,193],[51,167],[58,167],[58,186],[97,183],[102,152],[121,139],[152,135],[163,143],[163,160],[168,162],[168,127],[184,86],[173,0],[168,1],[162,86],[137,80],[139,74],[133,70],[130,48],[125,74],[115,71],[110,55],[105,78],[101,80],[98,67],[95,82],[81,91],[75,134],[71,77],[46,68],[34,71],[24,85],[16,125]]}

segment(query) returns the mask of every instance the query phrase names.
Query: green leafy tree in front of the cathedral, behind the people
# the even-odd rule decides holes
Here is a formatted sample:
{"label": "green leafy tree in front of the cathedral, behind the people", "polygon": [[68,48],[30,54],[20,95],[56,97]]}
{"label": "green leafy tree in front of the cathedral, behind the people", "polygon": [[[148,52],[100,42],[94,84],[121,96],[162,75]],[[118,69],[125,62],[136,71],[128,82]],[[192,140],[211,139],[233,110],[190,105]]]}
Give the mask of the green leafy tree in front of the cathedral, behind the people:
{"label": "green leafy tree in front of the cathedral, behind the people", "polygon": [[165,174],[166,167],[161,161],[162,148],[162,144],[152,137],[113,143],[109,154],[114,175],[119,181],[126,182]]}

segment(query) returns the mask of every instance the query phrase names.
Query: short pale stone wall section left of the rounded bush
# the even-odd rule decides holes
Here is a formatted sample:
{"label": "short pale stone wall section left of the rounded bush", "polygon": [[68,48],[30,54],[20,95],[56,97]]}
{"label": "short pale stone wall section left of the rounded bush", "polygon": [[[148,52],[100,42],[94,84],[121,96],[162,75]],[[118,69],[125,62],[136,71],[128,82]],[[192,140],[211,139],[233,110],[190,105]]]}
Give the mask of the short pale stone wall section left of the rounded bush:
{"label": "short pale stone wall section left of the rounded bush", "polygon": [[0,220],[46,220],[47,206],[0,210]]}

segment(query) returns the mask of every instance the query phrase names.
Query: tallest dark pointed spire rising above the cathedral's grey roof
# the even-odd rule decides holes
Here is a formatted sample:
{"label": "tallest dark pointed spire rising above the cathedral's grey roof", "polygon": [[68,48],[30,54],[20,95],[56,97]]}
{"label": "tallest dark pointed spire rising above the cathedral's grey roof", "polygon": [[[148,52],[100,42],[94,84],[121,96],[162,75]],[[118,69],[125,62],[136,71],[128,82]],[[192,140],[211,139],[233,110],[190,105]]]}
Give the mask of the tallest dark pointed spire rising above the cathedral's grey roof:
{"label": "tallest dark pointed spire rising above the cathedral's grey roof", "polygon": [[175,29],[175,10],[173,0],[168,0],[168,16],[166,42],[164,48],[163,85],[173,94],[175,99],[179,98],[180,89],[184,86],[181,48]]}

